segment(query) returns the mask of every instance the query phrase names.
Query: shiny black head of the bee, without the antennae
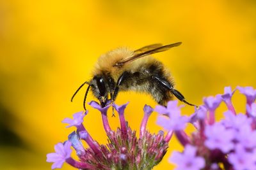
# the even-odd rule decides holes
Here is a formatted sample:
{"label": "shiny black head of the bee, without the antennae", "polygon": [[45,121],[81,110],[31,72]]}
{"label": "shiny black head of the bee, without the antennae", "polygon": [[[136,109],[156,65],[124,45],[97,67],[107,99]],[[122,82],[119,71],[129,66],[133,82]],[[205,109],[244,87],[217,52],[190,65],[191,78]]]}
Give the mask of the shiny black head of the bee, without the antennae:
{"label": "shiny black head of the bee, without the antennae", "polygon": [[97,97],[102,107],[106,106],[106,103],[108,101],[108,88],[106,78],[99,75],[94,76],[91,83],[93,95]]}

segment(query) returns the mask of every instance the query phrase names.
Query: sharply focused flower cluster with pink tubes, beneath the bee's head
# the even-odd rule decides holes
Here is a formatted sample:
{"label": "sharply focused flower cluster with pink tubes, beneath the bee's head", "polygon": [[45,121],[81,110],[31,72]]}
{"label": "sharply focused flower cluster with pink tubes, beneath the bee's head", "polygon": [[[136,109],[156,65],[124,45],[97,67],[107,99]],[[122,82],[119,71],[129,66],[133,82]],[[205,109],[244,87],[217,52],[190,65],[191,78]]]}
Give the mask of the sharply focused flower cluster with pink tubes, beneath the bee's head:
{"label": "sharply focused flower cluster with pink tubes, beneath the bee's head", "polygon": [[[120,119],[120,128],[116,131],[109,126],[107,117],[107,111],[111,105],[101,108],[95,101],[89,104],[101,113],[108,144],[100,145],[86,131],[83,119],[87,111],[75,113],[73,119],[65,118],[63,123],[68,124],[67,127],[75,126],[77,131],[72,132],[64,143],[54,146],[56,153],[47,154],[47,162],[53,162],[52,169],[61,168],[64,162],[77,169],[152,169],[163,159],[172,131],[164,136],[163,131],[150,134],[146,130],[148,118],[154,111],[150,106],[144,107],[140,138],[136,138],[136,132],[131,130],[124,117],[124,110],[128,103],[122,106],[113,104]],[[82,141],[85,141],[89,147],[84,148]],[[71,157],[71,146],[76,150],[79,161]]]}

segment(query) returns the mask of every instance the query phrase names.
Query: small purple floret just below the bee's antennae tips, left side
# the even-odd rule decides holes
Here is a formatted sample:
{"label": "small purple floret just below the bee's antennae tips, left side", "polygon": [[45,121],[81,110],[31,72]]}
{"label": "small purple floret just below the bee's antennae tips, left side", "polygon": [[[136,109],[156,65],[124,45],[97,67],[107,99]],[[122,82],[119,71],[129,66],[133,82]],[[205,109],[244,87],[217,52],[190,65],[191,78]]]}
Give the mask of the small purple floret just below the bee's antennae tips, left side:
{"label": "small purple floret just below the bee's antennae tips, left side", "polygon": [[69,124],[69,125],[67,125],[67,127],[72,127],[72,126],[78,127],[81,124],[83,124],[84,117],[88,113],[88,111],[86,111],[84,114],[83,113],[84,113],[84,111],[75,113],[73,115],[73,119],[72,118],[64,118],[64,120],[62,120],[62,123]]}

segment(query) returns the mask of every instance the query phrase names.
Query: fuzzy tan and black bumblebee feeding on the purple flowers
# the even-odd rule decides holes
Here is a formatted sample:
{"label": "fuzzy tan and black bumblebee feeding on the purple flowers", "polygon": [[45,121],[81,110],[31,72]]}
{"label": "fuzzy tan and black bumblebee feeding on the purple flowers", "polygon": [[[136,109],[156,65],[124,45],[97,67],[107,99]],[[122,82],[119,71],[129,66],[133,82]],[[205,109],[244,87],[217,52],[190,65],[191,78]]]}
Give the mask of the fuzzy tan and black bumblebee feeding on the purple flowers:
{"label": "fuzzy tan and black bumblebee feeding on the purple flowers", "polygon": [[115,102],[118,92],[129,90],[148,93],[163,106],[166,106],[173,96],[195,106],[188,103],[185,97],[174,89],[170,71],[162,62],[151,56],[153,53],[164,52],[180,44],[181,42],[170,45],[153,44],[135,51],[122,47],[101,55],[95,64],[92,80],[85,81],[76,90],[71,101],[81,87],[87,84],[83,101],[84,110],[89,90],[92,90],[93,96],[100,101],[102,107],[106,106],[109,99],[112,103]]}

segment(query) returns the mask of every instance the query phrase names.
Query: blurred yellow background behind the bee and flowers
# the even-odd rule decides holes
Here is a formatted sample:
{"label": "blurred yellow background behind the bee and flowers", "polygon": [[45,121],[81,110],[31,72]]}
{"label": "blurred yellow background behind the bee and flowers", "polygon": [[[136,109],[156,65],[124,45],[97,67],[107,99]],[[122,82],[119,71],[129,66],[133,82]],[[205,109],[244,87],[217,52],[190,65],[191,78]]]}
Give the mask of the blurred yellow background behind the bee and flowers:
{"label": "blurred yellow background behind the bee and flowers", "polygon": [[[132,49],[152,43],[178,48],[154,55],[170,68],[176,88],[190,103],[222,93],[225,86],[256,87],[256,3],[246,1],[0,1],[0,169],[51,169],[45,162],[53,146],[74,129],[61,120],[83,110],[85,89],[100,54],[118,46]],[[234,99],[244,110],[244,98]],[[88,101],[94,99],[92,94]],[[243,99],[243,102],[240,102]],[[125,111],[139,130],[144,104],[152,98],[120,93],[116,103],[130,101]],[[100,114],[87,106],[84,125],[106,143]],[[182,109],[193,113],[193,107]],[[225,110],[225,108],[223,109]],[[109,118],[111,127],[118,118]],[[156,113],[148,129],[157,132]],[[172,139],[164,160],[154,169],[173,169]],[[63,169],[74,169],[67,164]]]}

